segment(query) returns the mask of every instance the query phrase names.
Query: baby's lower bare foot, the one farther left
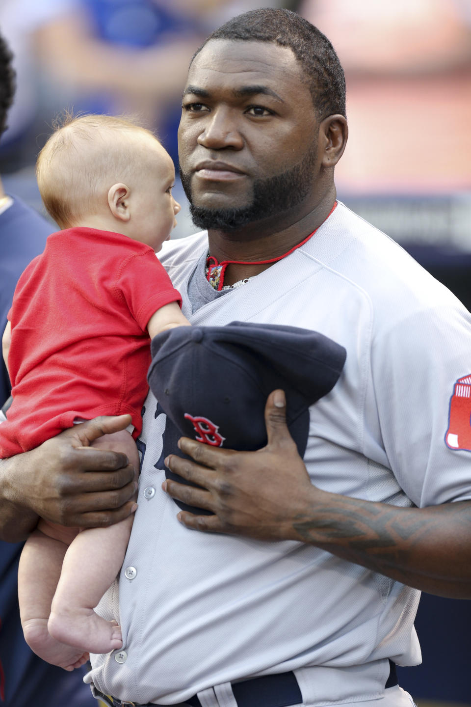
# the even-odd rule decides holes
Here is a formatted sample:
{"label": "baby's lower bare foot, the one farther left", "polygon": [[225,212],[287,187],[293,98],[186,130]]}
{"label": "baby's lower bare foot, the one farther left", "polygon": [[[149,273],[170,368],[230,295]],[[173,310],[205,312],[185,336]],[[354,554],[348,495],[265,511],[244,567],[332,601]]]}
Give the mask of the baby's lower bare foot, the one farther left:
{"label": "baby's lower bare foot, the one farther left", "polygon": [[23,624],[23,633],[33,653],[52,665],[63,667],[64,670],[70,671],[80,667],[89,658],[88,653],[83,650],[77,650],[52,638],[47,631],[47,619],[28,619]]}

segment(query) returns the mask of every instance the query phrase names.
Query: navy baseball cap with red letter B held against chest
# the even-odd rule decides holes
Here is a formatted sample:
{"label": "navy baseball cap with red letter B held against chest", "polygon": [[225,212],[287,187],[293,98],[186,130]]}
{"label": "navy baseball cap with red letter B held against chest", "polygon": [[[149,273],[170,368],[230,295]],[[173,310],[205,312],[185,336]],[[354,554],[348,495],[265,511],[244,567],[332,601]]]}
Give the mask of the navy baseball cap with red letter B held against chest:
{"label": "navy baseball cap with red letter B held against chest", "polygon": [[[287,426],[304,456],[309,406],[333,389],[346,351],[309,329],[231,322],[225,327],[175,327],[151,344],[150,390],[167,414],[164,457],[180,437],[234,450],[267,443],[264,410],[270,392],[285,391]],[[189,483],[169,469],[167,478]],[[208,513],[175,501],[184,510]]]}

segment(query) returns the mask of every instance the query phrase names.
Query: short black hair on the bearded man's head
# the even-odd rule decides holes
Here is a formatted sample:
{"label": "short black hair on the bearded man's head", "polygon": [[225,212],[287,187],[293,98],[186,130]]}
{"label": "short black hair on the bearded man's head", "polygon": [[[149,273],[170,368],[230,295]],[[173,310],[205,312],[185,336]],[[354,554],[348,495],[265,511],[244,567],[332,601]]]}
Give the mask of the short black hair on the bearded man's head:
{"label": "short black hair on the bearded man's head", "polygon": [[238,15],[211,33],[193,59],[210,40],[273,42],[290,47],[302,66],[318,119],[346,115],[345,75],[335,49],[318,28],[297,13],[261,8]]}

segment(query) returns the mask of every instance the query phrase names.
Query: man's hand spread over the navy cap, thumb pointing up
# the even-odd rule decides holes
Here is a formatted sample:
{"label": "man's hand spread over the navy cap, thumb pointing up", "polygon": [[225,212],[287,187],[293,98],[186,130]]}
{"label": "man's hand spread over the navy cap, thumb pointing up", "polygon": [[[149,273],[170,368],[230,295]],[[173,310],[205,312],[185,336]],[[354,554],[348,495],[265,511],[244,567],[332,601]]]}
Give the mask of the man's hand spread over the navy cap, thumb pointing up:
{"label": "man's hand spread over the navy cap, thumb pointing up", "polygon": [[209,532],[299,540],[294,524],[304,519],[309,495],[317,489],[290,436],[285,412],[284,393],[273,391],[265,410],[268,443],[257,452],[234,452],[181,438],[179,448],[195,462],[170,455],[165,463],[203,489],[169,479],[162,488],[173,498],[215,515],[181,511],[180,522]]}

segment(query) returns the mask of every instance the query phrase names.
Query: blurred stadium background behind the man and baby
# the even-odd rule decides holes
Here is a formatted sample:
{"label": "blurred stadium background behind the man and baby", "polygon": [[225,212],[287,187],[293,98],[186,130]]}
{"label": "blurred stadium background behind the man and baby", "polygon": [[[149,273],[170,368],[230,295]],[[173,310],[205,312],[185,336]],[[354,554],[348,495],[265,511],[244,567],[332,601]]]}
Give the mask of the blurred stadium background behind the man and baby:
{"label": "blurred stadium background behind the man and baby", "polygon": [[[470,309],[471,0],[0,0],[17,73],[0,141],[5,191],[42,211],[35,159],[64,108],[138,115],[177,164],[194,50],[227,18],[269,5],[317,25],[345,68],[350,138],[336,169],[339,199]],[[174,193],[179,238],[196,228],[178,183]],[[424,664],[400,670],[419,707],[471,705],[470,629],[471,602],[424,595]]]}

